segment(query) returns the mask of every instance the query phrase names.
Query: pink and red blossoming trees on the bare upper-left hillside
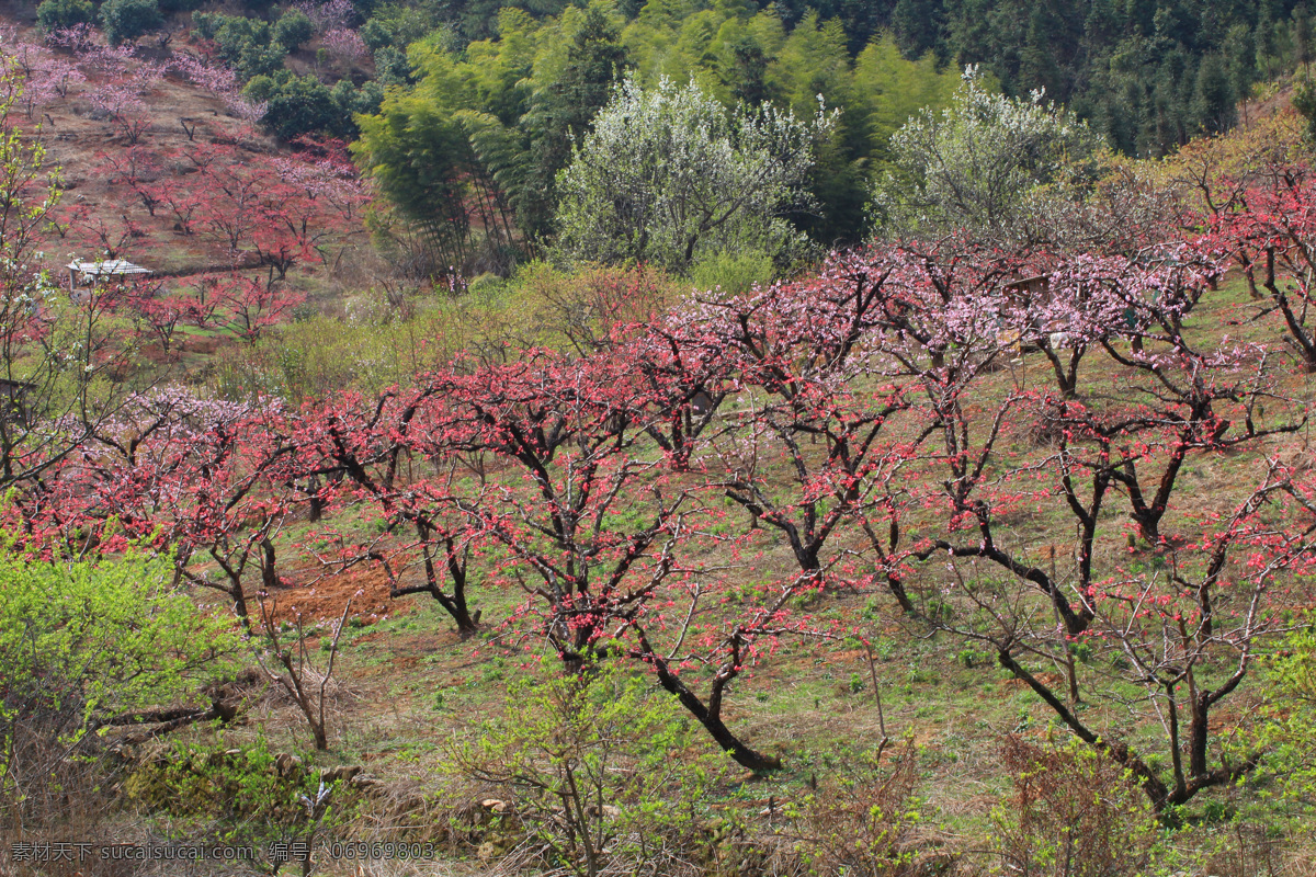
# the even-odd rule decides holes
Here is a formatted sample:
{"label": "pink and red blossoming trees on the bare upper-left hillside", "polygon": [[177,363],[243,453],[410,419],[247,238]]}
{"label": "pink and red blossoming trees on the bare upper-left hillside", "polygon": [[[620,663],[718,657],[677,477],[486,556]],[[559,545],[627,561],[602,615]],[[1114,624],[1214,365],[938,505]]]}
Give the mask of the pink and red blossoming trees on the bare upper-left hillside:
{"label": "pink and red blossoming trees on the bare upper-left hillside", "polygon": [[[234,264],[271,267],[282,279],[297,263],[320,260],[330,239],[354,227],[365,193],[346,150],[304,142],[291,156],[253,151],[247,141],[254,138],[242,135],[251,120],[242,122],[237,79],[228,67],[182,53],[153,62],[133,46],[99,43],[86,26],[57,32],[47,42],[0,33],[0,54],[22,84],[16,108],[39,125],[51,105],[87,101],[122,143],[97,156],[96,171],[122,192],[125,204],[136,204],[129,210],[92,202],[57,210],[61,250],[71,243],[120,258],[139,251],[151,235],[172,231]],[[182,120],[188,135],[183,147],[153,146],[150,131],[159,118],[149,103],[167,76],[237,108],[237,135],[197,139],[195,125]]]}

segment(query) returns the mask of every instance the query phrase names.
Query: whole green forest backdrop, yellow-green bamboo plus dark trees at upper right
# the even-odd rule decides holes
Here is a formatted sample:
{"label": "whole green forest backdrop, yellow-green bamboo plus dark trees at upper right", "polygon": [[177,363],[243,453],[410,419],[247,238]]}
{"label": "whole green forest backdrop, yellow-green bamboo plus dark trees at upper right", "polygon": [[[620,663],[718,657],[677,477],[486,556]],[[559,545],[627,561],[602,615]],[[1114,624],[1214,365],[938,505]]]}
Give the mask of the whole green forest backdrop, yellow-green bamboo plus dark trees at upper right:
{"label": "whole green forest backdrop, yellow-green bamboo plus dark trees at upper right", "polygon": [[[853,243],[867,227],[869,187],[890,167],[891,134],[919,108],[946,105],[963,64],[980,64],[1007,95],[1045,89],[1120,151],[1161,155],[1232,125],[1238,100],[1305,63],[1309,45],[1305,7],[1291,3],[654,0],[382,5],[372,16],[399,34],[380,47],[386,59],[425,16],[441,29],[412,45],[409,82],[359,120],[361,155],[430,227],[453,227],[453,183],[476,180],[504,243],[551,233],[569,137],[588,130],[628,74],[650,85],[692,78],[726,105],[808,116],[821,97],[840,109],[811,175],[812,209],[792,221],[816,241]],[[405,158],[417,153],[422,167]]]}

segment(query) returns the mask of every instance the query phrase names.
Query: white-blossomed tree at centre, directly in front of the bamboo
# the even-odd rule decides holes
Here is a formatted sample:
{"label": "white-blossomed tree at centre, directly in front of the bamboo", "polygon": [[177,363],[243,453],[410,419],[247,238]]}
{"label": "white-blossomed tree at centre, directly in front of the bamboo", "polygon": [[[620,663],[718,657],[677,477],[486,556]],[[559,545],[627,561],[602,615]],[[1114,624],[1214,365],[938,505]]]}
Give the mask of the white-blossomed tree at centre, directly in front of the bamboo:
{"label": "white-blossomed tree at centre, directly in front of the bamboo", "polygon": [[786,217],[808,209],[813,145],[833,124],[821,107],[811,120],[766,103],[726,109],[694,82],[632,78],[558,178],[562,252],[676,271],[732,249],[788,256],[804,239]]}

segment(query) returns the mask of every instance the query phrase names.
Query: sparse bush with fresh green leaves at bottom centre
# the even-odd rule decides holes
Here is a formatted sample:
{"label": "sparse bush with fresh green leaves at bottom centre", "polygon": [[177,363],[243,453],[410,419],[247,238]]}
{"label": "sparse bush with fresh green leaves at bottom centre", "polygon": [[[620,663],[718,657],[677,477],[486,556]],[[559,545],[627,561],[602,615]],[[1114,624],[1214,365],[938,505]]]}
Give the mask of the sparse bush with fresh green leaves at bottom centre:
{"label": "sparse bush with fresh green leaves at bottom centre", "polygon": [[450,769],[476,788],[453,793],[499,795],[488,843],[512,849],[512,866],[686,873],[721,765],[679,757],[692,742],[644,678],[586,668],[519,686],[500,718],[454,746]]}

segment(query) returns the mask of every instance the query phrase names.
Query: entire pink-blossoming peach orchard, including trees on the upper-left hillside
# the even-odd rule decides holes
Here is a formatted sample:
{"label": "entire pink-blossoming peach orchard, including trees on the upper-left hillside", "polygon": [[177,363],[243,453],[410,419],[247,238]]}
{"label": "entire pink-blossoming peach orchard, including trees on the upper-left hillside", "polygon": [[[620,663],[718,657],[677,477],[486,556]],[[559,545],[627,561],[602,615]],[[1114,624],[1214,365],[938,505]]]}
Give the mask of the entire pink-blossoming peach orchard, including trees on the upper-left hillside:
{"label": "entire pink-blossoming peach orchard, including trees on the upper-left hillside", "polygon": [[[787,639],[870,636],[820,607],[876,592],[907,625],[990,652],[1158,810],[1255,767],[1212,715],[1316,556],[1305,405],[1284,389],[1316,362],[1305,166],[1223,181],[1174,225],[1190,231],[1154,226],[1165,239],[1125,254],[874,245],[742,296],[613,302],[630,317],[582,329],[572,354],[507,347],[378,396],[233,402],[116,384],[128,347],[111,318],[166,351],[182,325],[254,343],[300,301],[280,281],[324,258],[363,193],[332,145],[270,162],[191,133],[150,146],[136,101],[166,74],[67,43],[74,67],[54,50],[24,62],[26,112],[92,89],[122,141],[100,170],[134,213],[61,204],[39,151],[7,134],[4,377],[62,388],[0,417],[22,547],[150,546],[243,625],[254,596],[291,585],[280,552],[324,575],[376,567],[463,636],[645,668],[753,770],[782,760],[728,722],[736,681]],[[174,72],[232,91],[197,62]],[[7,107],[22,112],[17,91]],[[41,272],[50,221],[113,255],[162,218],[230,268],[82,293]],[[1283,343],[1213,325],[1230,266]],[[1233,493],[1204,500],[1204,465],[1230,467]],[[483,618],[483,590],[519,607]],[[1159,744],[1090,702],[1158,726]]]}

